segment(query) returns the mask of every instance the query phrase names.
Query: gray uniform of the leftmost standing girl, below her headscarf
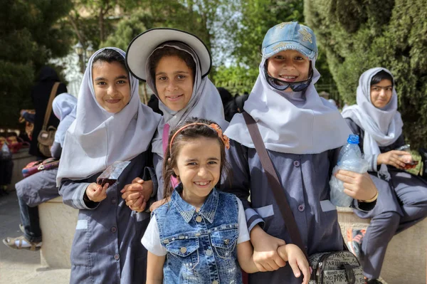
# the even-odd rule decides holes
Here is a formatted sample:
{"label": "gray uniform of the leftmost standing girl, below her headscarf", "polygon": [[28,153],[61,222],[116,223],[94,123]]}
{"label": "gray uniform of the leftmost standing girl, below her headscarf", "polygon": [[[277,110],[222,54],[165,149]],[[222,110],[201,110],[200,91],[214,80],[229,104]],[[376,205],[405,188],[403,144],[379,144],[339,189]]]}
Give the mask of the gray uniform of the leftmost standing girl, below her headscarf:
{"label": "gray uniform of the leftmost standing girl, below her headscarf", "polygon": [[60,184],[64,204],[79,209],[70,256],[70,283],[145,282],[147,250],[141,238],[149,213],[132,211],[120,190],[135,177],[146,178],[146,155],[144,152],[131,160],[117,182],[107,189],[107,198],[99,203],[85,203],[83,195],[100,173],[80,181],[65,179]]}

